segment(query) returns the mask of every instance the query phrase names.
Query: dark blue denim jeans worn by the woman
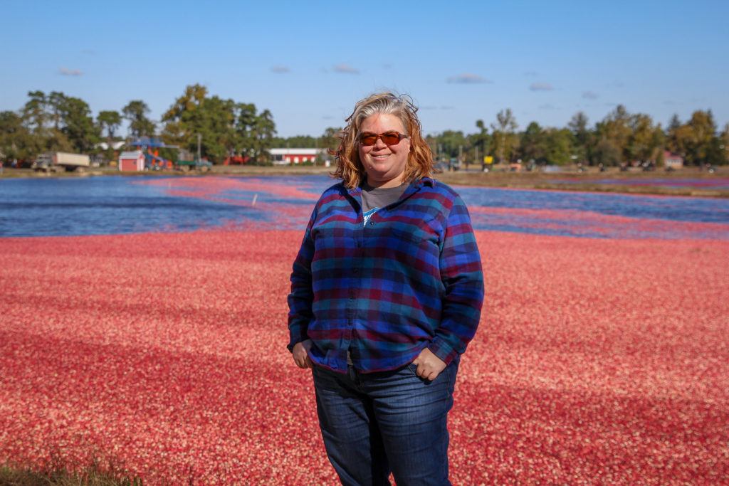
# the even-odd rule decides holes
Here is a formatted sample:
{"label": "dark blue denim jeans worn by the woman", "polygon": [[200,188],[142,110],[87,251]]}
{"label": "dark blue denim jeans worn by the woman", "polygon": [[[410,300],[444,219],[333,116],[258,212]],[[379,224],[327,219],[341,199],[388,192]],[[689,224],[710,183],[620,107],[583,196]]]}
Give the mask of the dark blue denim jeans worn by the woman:
{"label": "dark blue denim jeans worn by the woman", "polygon": [[416,365],[342,375],[314,367],[316,411],[327,456],[343,485],[450,485],[448,410],[459,359],[432,382]]}

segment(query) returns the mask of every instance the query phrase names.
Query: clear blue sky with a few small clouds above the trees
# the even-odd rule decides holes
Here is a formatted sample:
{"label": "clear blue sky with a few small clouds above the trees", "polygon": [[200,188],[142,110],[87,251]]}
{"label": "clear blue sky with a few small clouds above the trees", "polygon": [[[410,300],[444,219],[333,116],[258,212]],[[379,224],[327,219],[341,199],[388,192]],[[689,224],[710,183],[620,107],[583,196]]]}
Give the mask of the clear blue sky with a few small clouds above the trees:
{"label": "clear blue sky with a few small clouds above the trees", "polygon": [[0,110],[63,91],[94,114],[186,85],[255,103],[281,136],[343,125],[354,103],[413,96],[426,133],[590,123],[617,103],[666,125],[729,122],[729,1],[0,0]]}

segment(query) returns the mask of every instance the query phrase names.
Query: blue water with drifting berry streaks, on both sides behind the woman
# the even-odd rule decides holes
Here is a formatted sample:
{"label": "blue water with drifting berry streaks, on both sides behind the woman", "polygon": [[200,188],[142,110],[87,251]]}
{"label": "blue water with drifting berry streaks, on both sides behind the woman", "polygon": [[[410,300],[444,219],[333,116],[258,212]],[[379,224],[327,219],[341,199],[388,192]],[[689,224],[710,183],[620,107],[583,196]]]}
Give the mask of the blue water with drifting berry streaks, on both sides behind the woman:
{"label": "blue water with drifting berry streaks, on both sides behind the woman", "polygon": [[[235,184],[220,181],[257,186],[236,189]],[[326,176],[6,179],[0,180],[0,237],[189,231],[241,223],[303,228],[313,196],[297,197],[286,188],[318,195],[331,184]],[[206,197],[194,194],[198,185]],[[180,189],[189,194],[171,194]],[[477,230],[590,238],[729,239],[727,199],[456,189],[472,209]],[[257,205],[249,203],[254,197]],[[284,204],[300,208],[300,215],[295,212],[285,224],[276,211]]]}

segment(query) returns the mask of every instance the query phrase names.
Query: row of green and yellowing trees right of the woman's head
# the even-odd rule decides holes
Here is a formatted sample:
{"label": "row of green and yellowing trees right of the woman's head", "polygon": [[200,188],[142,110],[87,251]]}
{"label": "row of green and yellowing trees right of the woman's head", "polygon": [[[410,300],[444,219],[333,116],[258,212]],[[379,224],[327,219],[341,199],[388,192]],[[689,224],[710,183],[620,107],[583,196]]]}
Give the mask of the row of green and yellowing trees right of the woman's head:
{"label": "row of green and yellowing trees right of the woman's head", "polygon": [[480,119],[475,125],[477,131],[469,135],[445,130],[427,140],[438,158],[460,158],[463,162],[480,163],[489,155],[494,162],[661,165],[665,150],[684,157],[689,165],[729,162],[729,124],[717,130],[711,110],[694,111],[685,122],[674,114],[665,129],[650,115],[628,113],[623,105],[591,127],[580,111],[564,128],[545,128],[531,122],[518,131],[510,109],[499,111],[490,126]]}

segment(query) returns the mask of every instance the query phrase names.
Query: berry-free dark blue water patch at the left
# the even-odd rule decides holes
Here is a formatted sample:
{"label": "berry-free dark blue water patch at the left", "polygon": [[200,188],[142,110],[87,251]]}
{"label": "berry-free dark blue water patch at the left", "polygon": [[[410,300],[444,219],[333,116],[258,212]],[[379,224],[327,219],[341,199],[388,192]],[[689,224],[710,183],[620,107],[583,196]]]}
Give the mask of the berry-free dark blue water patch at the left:
{"label": "berry-free dark blue water patch at the left", "polygon": [[[256,214],[109,176],[0,181],[0,236],[109,235],[215,227]],[[158,178],[154,178],[157,180]]]}

